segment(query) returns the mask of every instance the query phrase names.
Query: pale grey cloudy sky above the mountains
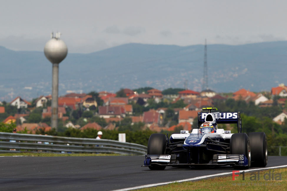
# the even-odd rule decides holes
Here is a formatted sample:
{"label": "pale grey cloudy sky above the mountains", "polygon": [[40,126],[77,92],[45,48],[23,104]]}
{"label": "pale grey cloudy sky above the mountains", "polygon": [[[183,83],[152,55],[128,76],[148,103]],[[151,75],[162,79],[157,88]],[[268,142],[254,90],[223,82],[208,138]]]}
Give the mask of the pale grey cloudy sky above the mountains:
{"label": "pale grey cloudy sky above the mountains", "polygon": [[246,44],[287,36],[287,1],[1,0],[0,46],[43,51],[62,33],[69,53],[125,43]]}

